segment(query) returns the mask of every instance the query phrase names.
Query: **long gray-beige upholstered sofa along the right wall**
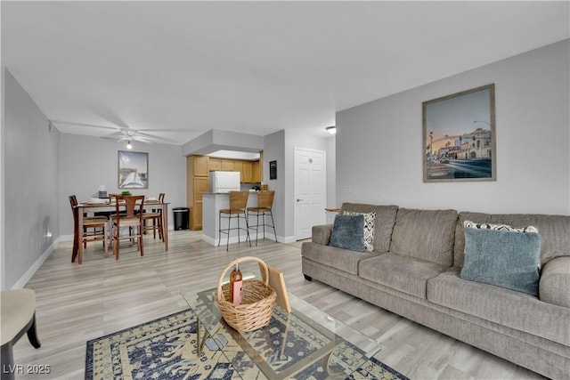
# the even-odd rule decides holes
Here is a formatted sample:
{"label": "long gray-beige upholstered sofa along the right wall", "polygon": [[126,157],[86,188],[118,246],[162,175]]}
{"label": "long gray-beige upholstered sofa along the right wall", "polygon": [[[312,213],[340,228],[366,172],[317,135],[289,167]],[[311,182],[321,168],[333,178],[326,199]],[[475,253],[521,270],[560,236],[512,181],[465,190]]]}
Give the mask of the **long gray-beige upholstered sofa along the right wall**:
{"label": "long gray-beige upholstered sofa along the right wall", "polygon": [[[375,213],[373,250],[329,246],[332,224],[303,243],[316,279],[519,366],[570,378],[570,216],[480,214],[344,204]],[[462,279],[465,221],[532,225],[542,238],[537,295]]]}

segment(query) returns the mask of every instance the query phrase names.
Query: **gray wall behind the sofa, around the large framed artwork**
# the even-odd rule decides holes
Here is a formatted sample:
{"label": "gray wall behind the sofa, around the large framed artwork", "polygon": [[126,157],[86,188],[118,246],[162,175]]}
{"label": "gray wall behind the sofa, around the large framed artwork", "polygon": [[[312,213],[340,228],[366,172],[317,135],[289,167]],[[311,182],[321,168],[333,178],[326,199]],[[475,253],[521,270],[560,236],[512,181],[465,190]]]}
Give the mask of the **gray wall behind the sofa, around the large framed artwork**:
{"label": "gray wall behind the sofa, around the large framed artwork", "polygon": [[[570,214],[568,57],[566,40],[338,112],[337,206]],[[422,101],[490,83],[497,181],[422,182]]]}

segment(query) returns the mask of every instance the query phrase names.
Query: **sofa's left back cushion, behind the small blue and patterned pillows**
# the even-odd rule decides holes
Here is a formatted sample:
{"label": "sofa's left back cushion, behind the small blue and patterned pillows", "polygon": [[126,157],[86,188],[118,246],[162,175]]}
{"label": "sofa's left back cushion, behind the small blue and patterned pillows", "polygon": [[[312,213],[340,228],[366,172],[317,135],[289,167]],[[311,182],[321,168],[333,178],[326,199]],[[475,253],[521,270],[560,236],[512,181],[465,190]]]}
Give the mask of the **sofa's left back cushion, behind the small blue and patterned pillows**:
{"label": "sofa's left back cushion, behind the small blue and patterned pillows", "polygon": [[395,214],[398,206],[375,206],[362,203],[344,203],[342,211],[354,213],[376,213],[374,218],[374,242],[373,247],[376,252],[387,252],[390,249],[390,238],[395,223]]}

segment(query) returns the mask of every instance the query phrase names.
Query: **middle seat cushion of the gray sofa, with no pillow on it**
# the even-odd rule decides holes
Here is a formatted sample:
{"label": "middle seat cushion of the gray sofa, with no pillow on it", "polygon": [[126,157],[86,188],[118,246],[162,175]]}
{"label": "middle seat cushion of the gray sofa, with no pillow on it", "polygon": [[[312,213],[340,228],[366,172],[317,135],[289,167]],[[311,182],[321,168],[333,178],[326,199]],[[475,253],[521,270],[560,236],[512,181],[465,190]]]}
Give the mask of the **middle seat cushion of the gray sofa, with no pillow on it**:
{"label": "middle seat cushion of the gray sofa, with no pillow on it", "polygon": [[362,260],[358,274],[362,279],[426,299],[428,279],[437,277],[446,269],[410,256],[387,254]]}

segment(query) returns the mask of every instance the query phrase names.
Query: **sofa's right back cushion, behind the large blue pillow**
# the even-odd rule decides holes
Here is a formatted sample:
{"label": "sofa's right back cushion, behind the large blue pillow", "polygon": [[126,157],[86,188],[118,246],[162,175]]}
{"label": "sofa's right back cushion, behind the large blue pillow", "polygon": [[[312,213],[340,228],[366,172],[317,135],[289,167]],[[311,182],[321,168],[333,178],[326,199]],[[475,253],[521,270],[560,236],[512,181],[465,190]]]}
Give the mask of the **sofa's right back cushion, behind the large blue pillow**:
{"label": "sofa's right back cushion, behind the large blue pillow", "polygon": [[570,216],[547,214],[482,214],[461,212],[455,227],[453,266],[463,267],[465,232],[463,222],[509,224],[511,227],[533,226],[541,234],[541,264],[558,256],[570,256]]}

